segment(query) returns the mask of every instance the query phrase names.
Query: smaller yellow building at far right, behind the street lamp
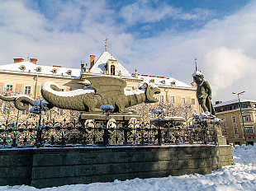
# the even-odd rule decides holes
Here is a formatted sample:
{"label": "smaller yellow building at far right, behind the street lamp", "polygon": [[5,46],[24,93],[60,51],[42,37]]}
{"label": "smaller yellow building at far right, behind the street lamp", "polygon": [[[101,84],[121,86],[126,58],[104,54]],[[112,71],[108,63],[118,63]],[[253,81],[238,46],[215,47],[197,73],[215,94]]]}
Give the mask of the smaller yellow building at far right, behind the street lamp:
{"label": "smaller yellow building at far right, behind the street lamp", "polygon": [[[226,102],[216,102],[216,116],[223,119],[225,125],[222,134],[227,138],[227,143],[241,145],[245,143],[254,145],[256,142],[256,100],[230,100]],[[241,118],[240,106],[242,109]],[[245,133],[244,133],[245,128]]]}

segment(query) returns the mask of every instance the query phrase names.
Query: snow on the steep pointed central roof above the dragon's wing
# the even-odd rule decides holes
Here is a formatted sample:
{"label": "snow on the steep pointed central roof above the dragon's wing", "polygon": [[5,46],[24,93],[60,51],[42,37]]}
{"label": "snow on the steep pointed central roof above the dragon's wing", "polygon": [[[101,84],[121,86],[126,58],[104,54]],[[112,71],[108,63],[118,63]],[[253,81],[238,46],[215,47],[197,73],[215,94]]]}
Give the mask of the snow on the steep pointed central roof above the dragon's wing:
{"label": "snow on the steep pointed central roof above the dragon's wing", "polygon": [[[101,73],[101,74],[104,73],[105,65],[109,59],[116,60],[116,58],[114,58],[107,50],[104,50],[102,55],[99,58],[97,58],[96,63],[94,63],[90,71],[92,73]],[[120,71],[121,76],[123,77],[131,77],[130,72],[128,72],[126,68],[124,68],[121,65],[121,63],[117,64],[116,71],[118,72]]]}

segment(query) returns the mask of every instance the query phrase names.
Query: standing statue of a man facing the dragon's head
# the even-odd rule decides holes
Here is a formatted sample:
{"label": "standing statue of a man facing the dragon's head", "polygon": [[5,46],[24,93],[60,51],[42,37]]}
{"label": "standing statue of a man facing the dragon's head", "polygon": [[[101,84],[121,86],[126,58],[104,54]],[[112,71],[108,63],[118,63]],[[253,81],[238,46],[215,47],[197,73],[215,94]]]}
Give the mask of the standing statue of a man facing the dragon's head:
{"label": "standing statue of a man facing the dragon's head", "polygon": [[211,86],[207,82],[202,73],[197,71],[192,74],[194,82],[197,83],[197,100],[199,105],[201,105],[204,112],[209,111],[211,114],[215,115],[215,109],[211,104]]}

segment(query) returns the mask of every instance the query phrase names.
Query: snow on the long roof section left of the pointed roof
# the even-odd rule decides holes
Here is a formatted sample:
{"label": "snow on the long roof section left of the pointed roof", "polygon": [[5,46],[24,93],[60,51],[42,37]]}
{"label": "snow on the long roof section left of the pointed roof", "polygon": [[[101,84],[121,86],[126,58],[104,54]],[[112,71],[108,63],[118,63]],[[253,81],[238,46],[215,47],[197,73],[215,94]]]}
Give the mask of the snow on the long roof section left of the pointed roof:
{"label": "snow on the long roof section left of the pointed roof", "polygon": [[[25,68],[21,68],[22,66],[24,66]],[[38,70],[36,68],[40,68],[40,72],[37,72]],[[73,78],[79,78],[82,74],[81,69],[43,66],[43,65],[31,63],[29,61],[0,65],[0,70],[10,71],[10,72],[27,72],[27,73],[36,73],[36,74],[46,74],[51,76],[63,76],[63,77],[73,77]],[[69,70],[71,71],[71,75],[68,74]]]}

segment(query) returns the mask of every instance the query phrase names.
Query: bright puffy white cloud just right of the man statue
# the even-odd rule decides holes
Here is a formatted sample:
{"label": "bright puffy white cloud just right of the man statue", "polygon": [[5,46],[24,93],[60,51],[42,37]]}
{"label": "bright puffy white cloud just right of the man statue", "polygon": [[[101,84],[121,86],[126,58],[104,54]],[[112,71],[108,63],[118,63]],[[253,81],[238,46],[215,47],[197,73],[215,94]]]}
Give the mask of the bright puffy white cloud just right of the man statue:
{"label": "bright puffy white cloud just right of the man statue", "polygon": [[206,54],[205,60],[205,67],[211,75],[209,80],[215,95],[216,91],[225,90],[241,78],[254,75],[256,69],[256,59],[249,58],[240,49],[225,47],[212,49]]}

